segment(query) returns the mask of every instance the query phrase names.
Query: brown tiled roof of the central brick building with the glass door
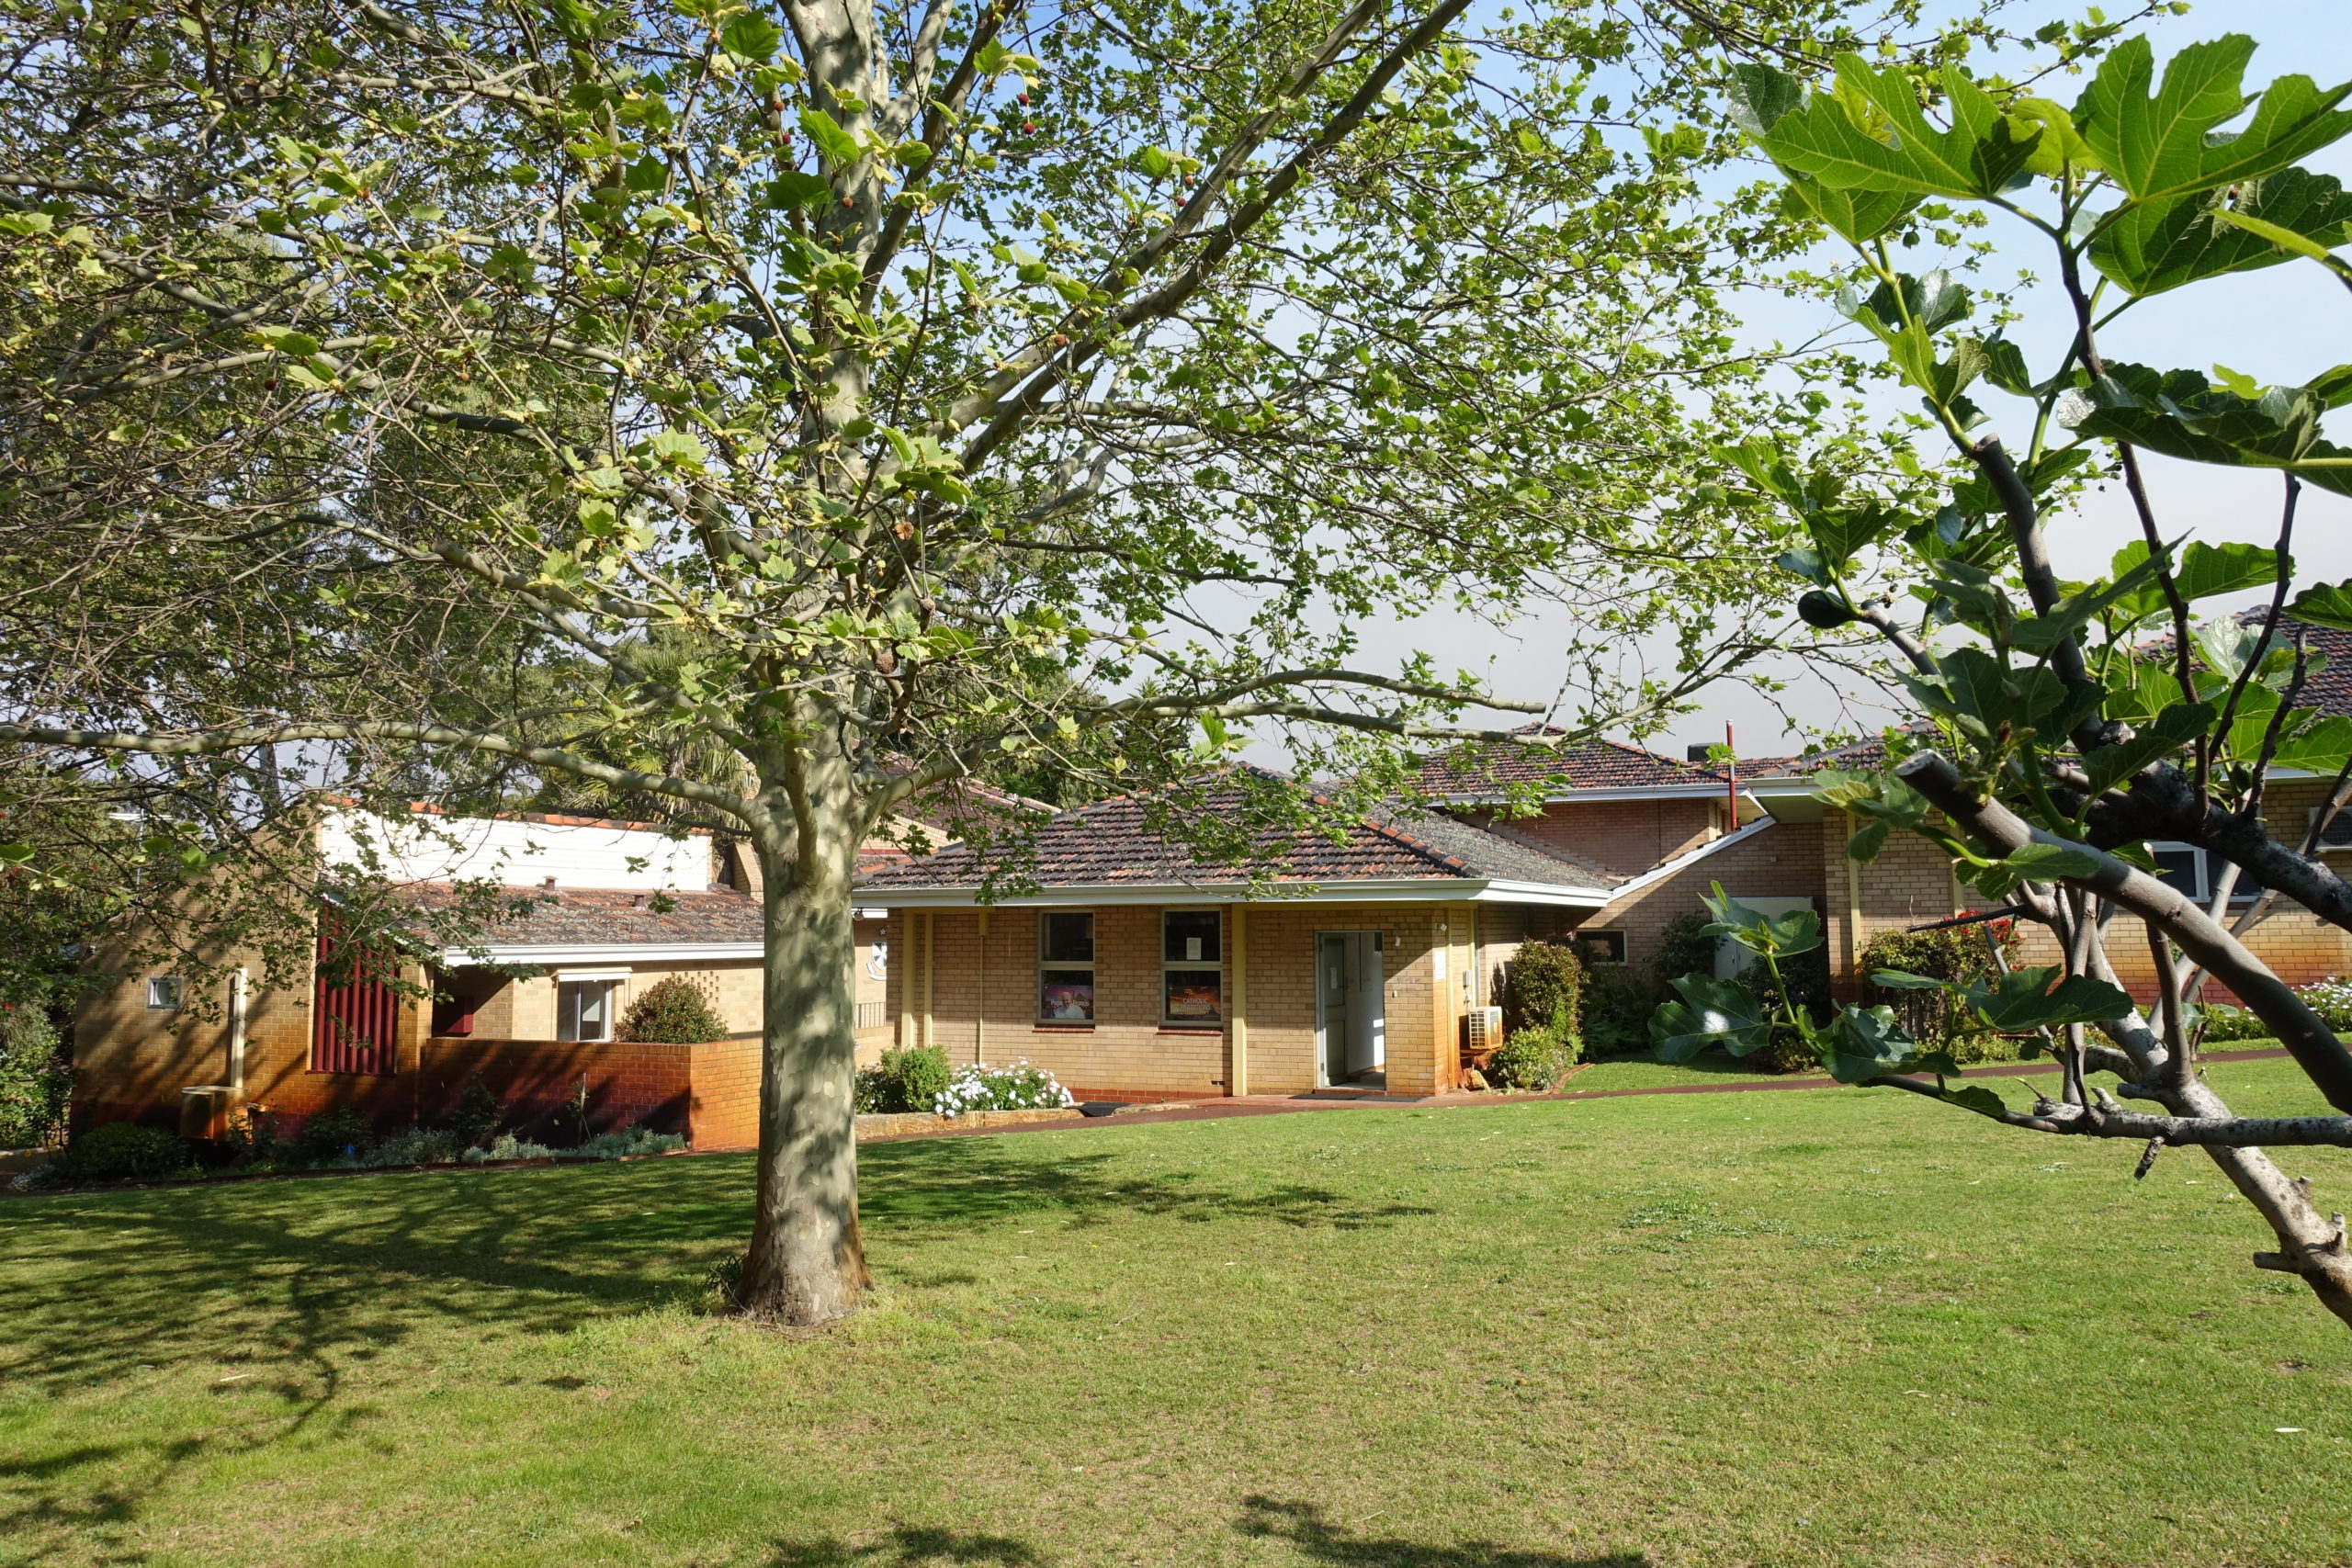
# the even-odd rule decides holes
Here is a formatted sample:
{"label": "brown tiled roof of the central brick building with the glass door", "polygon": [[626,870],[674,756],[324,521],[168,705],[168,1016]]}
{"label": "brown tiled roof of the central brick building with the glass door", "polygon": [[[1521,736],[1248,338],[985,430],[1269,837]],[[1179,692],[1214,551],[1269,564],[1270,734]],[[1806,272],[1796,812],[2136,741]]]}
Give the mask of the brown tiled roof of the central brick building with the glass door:
{"label": "brown tiled roof of the central brick building with the glass door", "polygon": [[[1242,806],[1237,788],[1209,790],[1185,811],[1232,813]],[[1275,882],[1364,882],[1430,879],[1444,882],[1541,882],[1569,889],[1606,889],[1604,877],[1581,865],[1545,856],[1524,844],[1446,818],[1359,820],[1338,839],[1319,832],[1291,832],[1261,839],[1272,851]],[[1244,884],[1247,865],[1209,865],[1169,839],[1150,823],[1141,797],[1122,795],[1063,811],[1044,823],[1030,849],[1025,872],[1037,886],[1200,886]],[[964,844],[950,844],[936,856],[863,877],[861,893],[913,889],[976,889],[981,858]]]}

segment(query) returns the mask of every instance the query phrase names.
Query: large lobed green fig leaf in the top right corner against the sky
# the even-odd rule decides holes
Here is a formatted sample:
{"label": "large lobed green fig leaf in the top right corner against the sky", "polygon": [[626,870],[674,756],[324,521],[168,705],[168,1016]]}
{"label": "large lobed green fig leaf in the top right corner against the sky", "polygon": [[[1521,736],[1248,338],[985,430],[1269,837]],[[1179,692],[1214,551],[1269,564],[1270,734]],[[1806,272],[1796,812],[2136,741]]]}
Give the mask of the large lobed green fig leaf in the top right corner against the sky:
{"label": "large lobed green fig leaf in the top right corner against the sky", "polygon": [[2263,179],[2352,132],[2336,106],[2352,82],[2319,92],[2307,75],[2281,75],[2237,134],[2220,127],[2246,108],[2241,80],[2253,56],[2244,33],[2187,45],[2154,82],[2147,35],[2126,38],[2084,89],[2074,127],[2114,181],[2143,202]]}

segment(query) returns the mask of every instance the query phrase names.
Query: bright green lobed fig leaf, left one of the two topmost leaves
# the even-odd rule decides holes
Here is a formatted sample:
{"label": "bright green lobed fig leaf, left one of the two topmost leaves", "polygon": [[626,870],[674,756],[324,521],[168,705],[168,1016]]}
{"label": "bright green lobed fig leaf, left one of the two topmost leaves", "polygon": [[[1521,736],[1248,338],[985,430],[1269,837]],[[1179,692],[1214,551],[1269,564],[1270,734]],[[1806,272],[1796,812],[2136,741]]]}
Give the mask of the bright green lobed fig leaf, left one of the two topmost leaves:
{"label": "bright green lobed fig leaf, left one of the two topmost leaves", "polygon": [[1792,174],[1839,190],[1891,195],[1997,195],[2032,158],[2042,132],[2009,120],[1985,92],[1945,73],[1952,129],[1929,125],[1910,75],[1872,71],[1860,54],[1837,59],[1837,85],[1780,115],[1764,150]]}

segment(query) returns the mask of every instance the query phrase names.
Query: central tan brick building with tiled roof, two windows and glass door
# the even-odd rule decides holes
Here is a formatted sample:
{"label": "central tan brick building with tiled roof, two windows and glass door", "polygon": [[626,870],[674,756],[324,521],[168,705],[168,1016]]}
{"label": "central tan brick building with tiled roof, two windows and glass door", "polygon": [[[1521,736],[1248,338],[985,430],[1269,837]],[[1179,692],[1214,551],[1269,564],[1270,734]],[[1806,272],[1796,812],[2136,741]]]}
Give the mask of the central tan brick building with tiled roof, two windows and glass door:
{"label": "central tan brick building with tiled roof, two windows and glass door", "polygon": [[1609,898],[1590,865],[1444,816],[1261,851],[1254,884],[1122,797],[1044,823],[1035,891],[983,903],[988,867],[964,846],[868,877],[858,898],[889,907],[898,954],[894,1039],[1025,1058],[1089,1100],[1423,1095],[1454,1086],[1463,1018],[1519,943]]}

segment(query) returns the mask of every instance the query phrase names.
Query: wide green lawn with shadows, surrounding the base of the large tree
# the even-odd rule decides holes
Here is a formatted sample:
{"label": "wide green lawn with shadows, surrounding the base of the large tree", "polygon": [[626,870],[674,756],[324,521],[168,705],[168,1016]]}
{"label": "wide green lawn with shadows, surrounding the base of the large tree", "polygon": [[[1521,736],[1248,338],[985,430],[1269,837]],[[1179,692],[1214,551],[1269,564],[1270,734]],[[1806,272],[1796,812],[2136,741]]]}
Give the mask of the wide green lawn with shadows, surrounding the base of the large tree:
{"label": "wide green lawn with shadows, surrounding the base of the large tree", "polygon": [[16,1199],[0,1561],[2352,1559],[2352,1335],[2136,1157],[1886,1091],[880,1145],[830,1335],[696,1314],[734,1157]]}

